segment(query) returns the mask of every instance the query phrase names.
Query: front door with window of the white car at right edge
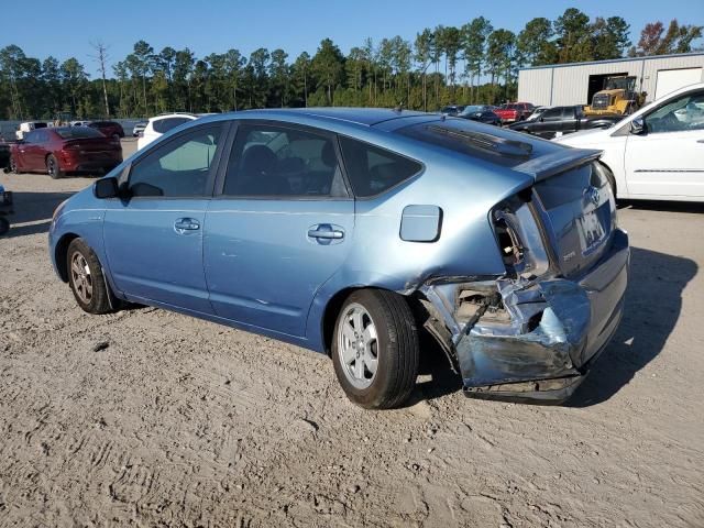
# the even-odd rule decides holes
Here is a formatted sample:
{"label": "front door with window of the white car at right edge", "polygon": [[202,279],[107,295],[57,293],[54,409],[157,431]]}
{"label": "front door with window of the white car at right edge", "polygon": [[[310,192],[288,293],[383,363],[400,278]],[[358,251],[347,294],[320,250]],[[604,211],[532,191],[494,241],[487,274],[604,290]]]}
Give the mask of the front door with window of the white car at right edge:
{"label": "front door with window of the white car at right edge", "polygon": [[653,109],[644,134],[626,140],[629,195],[704,197],[704,90]]}

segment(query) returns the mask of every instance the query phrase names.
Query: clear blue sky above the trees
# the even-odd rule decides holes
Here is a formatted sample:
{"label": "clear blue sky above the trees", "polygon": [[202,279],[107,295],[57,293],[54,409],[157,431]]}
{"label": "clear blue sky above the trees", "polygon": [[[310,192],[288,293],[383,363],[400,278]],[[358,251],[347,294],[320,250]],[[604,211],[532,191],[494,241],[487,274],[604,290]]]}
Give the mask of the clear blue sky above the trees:
{"label": "clear blue sky above the trees", "polygon": [[378,42],[400,35],[413,43],[425,28],[460,26],[480,15],[518,33],[530,19],[554,20],[570,7],[592,19],[623,16],[634,43],[656,20],[704,25],[704,0],[10,0],[2,7],[0,47],[16,44],[40,59],[75,56],[95,77],[90,43],[99,40],[109,46],[110,64],[141,38],[156,52],[189,47],[199,58],[230,48],[249,56],[258,47],[280,47],[293,62],[300,52],[312,55],[324,37],[346,54],[367,36]]}

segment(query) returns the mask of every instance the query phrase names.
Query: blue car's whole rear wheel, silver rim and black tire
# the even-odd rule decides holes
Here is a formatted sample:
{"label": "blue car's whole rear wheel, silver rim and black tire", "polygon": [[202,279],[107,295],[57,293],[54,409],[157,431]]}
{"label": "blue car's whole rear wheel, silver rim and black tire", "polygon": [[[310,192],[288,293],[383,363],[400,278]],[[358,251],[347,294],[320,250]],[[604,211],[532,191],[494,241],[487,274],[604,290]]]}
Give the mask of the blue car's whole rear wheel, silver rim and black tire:
{"label": "blue car's whole rear wheel, silver rim and black tire", "polygon": [[346,396],[367,409],[397,407],[416,385],[418,331],[406,299],[361,289],[344,301],[334,328],[332,363]]}

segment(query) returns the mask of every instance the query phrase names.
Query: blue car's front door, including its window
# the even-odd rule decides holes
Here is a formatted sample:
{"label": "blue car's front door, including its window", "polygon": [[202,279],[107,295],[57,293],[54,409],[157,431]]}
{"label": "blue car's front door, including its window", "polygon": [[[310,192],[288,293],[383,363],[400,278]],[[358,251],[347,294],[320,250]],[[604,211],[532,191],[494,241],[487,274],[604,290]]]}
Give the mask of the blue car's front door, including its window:
{"label": "blue car's front door, including its window", "polygon": [[224,138],[222,123],[205,124],[145,152],[123,184],[128,198],[109,201],[108,264],[130,298],[212,314],[202,241]]}

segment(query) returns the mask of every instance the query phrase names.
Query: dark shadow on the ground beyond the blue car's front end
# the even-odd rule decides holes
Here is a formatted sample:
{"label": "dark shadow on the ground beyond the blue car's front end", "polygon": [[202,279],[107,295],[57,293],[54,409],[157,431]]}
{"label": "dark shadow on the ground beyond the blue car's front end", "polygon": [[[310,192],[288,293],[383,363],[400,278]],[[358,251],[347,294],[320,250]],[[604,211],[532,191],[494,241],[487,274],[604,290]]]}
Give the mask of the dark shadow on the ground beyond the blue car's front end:
{"label": "dark shadow on the ground beyond the blue car's front end", "polygon": [[48,232],[54,210],[73,195],[74,193],[13,193],[14,213],[6,217],[11,228],[3,238]]}

